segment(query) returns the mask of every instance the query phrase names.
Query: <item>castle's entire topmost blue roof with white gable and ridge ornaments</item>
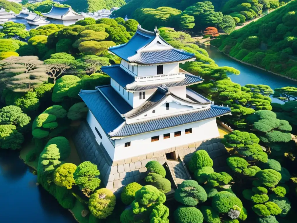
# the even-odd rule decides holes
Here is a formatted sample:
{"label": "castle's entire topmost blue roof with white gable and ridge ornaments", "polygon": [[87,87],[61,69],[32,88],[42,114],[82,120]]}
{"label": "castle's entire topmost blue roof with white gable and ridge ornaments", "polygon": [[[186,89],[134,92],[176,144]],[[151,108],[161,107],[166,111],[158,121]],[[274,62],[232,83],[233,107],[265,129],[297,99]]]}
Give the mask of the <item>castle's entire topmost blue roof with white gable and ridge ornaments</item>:
{"label": "castle's entire topmost blue roof with white gable and ridge ornaments", "polygon": [[[156,42],[153,42],[154,40]],[[150,43],[154,43],[156,47],[148,47]],[[128,62],[143,65],[172,63],[195,58],[194,54],[170,46],[159,36],[157,28],[154,32],[150,32],[142,29],[140,25],[128,43],[110,47],[109,51]]]}

